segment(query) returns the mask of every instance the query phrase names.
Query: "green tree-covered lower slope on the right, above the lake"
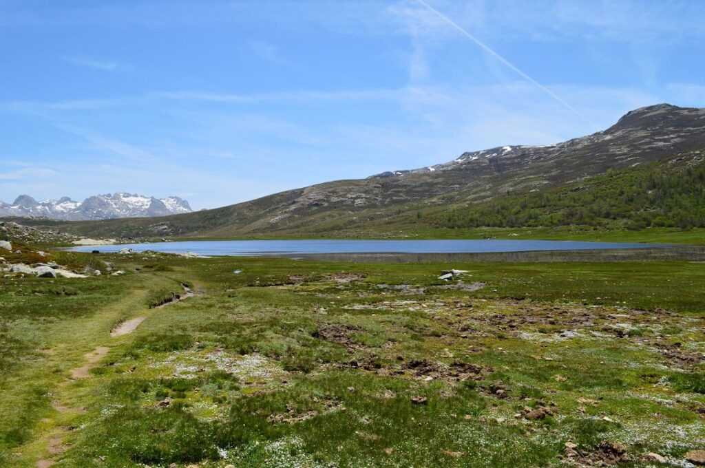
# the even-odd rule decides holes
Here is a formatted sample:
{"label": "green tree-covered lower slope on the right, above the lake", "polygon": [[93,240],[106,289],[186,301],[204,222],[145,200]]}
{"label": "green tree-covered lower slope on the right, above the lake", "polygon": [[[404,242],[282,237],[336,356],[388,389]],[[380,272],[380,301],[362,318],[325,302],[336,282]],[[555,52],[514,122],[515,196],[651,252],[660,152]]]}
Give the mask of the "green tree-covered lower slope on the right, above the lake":
{"label": "green tree-covered lower slope on the right, above the lake", "polygon": [[[439,227],[705,227],[705,163],[663,161],[436,215]],[[670,164],[668,164],[670,163]]]}

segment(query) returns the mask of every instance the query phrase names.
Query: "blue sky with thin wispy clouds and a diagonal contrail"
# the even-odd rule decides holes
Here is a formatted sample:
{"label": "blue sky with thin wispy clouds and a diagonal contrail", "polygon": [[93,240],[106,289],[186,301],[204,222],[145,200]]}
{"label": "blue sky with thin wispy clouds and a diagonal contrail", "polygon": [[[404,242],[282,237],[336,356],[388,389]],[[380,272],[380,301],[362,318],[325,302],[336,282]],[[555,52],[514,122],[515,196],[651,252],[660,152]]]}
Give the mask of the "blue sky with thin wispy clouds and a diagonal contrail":
{"label": "blue sky with thin wispy clouds and a diagonal contrail", "polygon": [[0,199],[195,209],[705,106],[705,2],[0,0]]}

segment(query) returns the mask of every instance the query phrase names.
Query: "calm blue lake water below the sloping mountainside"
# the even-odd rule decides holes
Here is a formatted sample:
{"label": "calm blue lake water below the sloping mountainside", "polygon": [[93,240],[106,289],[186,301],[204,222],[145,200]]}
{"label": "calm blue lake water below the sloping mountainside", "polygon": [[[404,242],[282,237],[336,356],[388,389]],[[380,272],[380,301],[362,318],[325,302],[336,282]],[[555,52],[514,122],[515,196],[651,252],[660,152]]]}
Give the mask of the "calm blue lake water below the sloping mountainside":
{"label": "calm blue lake water below the sloping mountainside", "polygon": [[132,248],[135,252],[154,250],[200,255],[290,255],[290,254],[460,254],[479,252],[527,252],[537,250],[598,250],[666,247],[656,244],[625,242],[582,242],[567,240],[190,240],[149,244],[87,245],[73,247],[75,252],[118,252]]}

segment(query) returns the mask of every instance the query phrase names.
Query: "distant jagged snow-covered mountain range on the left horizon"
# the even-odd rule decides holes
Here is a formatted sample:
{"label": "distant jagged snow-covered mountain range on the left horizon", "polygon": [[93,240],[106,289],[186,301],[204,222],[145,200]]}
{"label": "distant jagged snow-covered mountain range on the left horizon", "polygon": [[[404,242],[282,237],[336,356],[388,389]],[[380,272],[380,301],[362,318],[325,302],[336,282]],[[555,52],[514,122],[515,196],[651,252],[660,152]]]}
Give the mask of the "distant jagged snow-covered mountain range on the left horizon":
{"label": "distant jagged snow-covered mountain range on the left horizon", "polygon": [[83,202],[69,197],[37,202],[29,195],[20,195],[12,204],[0,202],[0,217],[42,216],[66,221],[168,216],[191,211],[188,202],[179,197],[157,199],[126,192],[94,195]]}

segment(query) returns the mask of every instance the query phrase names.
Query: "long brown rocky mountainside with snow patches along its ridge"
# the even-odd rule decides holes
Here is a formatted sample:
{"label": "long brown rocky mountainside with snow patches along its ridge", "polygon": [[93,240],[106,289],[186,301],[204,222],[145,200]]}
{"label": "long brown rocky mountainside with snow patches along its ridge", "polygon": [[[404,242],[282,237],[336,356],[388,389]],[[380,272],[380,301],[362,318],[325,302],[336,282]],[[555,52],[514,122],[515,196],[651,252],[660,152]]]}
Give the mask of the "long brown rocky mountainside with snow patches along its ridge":
{"label": "long brown rocky mountainside with snow patches along its ridge", "polygon": [[61,228],[136,238],[357,236],[399,227],[414,230],[436,225],[439,214],[448,211],[544,192],[704,148],[705,109],[657,104],[627,113],[606,130],[558,144],[466,152],[445,164],[322,183],[207,211]]}

